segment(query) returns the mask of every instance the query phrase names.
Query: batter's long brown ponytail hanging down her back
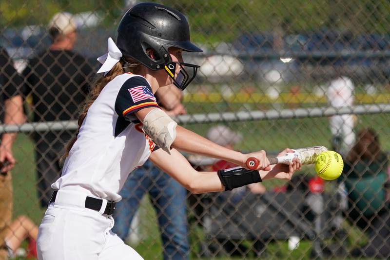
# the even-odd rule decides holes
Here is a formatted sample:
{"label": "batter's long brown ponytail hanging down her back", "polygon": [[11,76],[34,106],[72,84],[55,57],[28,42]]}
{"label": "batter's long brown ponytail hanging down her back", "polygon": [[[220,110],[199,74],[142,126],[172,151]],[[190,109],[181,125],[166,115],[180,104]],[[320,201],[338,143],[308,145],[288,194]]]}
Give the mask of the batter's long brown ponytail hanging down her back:
{"label": "batter's long brown ponytail hanging down her back", "polygon": [[108,84],[108,82],[113,80],[115,77],[125,73],[125,68],[127,68],[126,71],[135,73],[139,68],[139,66],[140,66],[139,62],[129,57],[126,57],[126,61],[124,60],[118,61],[117,64],[115,64],[114,67],[106,75],[98,77],[92,83],[91,91],[89,92],[88,97],[85,100],[84,106],[78,116],[78,130],[76,132],[76,135],[66,143],[64,154],[62,155],[61,160],[65,160],[65,158],[69,155],[70,149],[72,149],[73,144],[77,140],[78,131],[80,130],[81,124],[84,121],[85,117],[87,116],[88,109],[98,98],[102,89]]}

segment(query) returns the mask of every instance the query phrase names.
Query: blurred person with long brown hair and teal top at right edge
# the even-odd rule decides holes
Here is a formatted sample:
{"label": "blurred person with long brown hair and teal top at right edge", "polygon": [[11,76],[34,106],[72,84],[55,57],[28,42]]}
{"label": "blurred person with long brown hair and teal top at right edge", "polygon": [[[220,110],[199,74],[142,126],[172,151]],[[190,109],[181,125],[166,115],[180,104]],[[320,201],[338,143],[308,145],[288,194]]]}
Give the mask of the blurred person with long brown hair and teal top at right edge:
{"label": "blurred person with long brown hair and teal top at right edge", "polygon": [[367,244],[351,251],[353,257],[390,257],[388,163],[377,133],[371,128],[361,130],[339,178],[348,196],[348,219],[368,235]]}

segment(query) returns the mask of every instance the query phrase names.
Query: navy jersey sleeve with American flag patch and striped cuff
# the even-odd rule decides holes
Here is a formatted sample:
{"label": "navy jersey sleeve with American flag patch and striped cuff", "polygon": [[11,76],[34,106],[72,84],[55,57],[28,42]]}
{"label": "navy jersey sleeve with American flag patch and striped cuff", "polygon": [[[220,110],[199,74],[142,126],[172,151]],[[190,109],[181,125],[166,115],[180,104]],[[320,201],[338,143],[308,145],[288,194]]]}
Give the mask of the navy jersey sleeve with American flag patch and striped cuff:
{"label": "navy jersey sleeve with American flag patch and striped cuff", "polygon": [[146,107],[159,107],[148,81],[137,76],[126,80],[115,101],[118,116],[135,122],[138,119],[134,113]]}

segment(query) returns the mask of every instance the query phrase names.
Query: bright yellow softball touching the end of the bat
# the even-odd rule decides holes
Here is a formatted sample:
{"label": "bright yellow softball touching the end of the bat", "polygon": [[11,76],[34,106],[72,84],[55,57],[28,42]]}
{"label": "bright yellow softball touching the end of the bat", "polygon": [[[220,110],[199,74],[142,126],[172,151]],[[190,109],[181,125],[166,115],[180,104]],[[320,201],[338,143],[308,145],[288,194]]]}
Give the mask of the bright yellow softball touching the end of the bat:
{"label": "bright yellow softball touching the end of the bat", "polygon": [[315,171],[324,180],[334,180],[340,177],[344,162],[341,155],[334,151],[325,151],[315,160]]}

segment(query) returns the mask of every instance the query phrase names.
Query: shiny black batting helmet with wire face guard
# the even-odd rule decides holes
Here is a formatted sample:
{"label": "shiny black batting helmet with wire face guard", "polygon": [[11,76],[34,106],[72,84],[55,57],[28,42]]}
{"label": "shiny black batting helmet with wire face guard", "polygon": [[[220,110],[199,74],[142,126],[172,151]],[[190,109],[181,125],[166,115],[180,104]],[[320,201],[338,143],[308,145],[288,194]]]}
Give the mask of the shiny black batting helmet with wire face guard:
{"label": "shiny black batting helmet with wire face guard", "polygon": [[[183,51],[201,52],[190,40],[190,29],[185,16],[168,6],[142,2],[129,9],[118,26],[117,46],[123,55],[137,60],[152,70],[165,69],[174,84],[184,89],[195,78],[199,66],[184,62],[173,62],[169,47]],[[152,49],[155,59],[147,54]],[[176,76],[176,65],[181,67]],[[185,67],[193,68],[186,71]]]}

